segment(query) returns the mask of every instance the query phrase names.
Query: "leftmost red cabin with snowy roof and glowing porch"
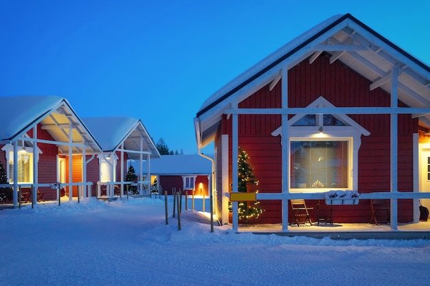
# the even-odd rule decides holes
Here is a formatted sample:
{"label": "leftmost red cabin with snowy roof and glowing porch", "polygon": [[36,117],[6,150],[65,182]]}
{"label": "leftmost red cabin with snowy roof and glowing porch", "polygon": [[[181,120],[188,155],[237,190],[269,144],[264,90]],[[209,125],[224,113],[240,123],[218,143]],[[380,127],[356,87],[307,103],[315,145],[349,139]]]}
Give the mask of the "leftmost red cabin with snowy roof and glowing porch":
{"label": "leftmost red cabin with snowy roof and glowing porch", "polygon": [[[88,161],[82,162],[82,157],[100,153],[101,147],[66,99],[0,97],[0,106],[0,163],[8,180],[0,187],[12,187],[14,206],[19,198],[37,203],[58,200],[71,188],[80,189],[81,194],[91,188],[85,171]],[[72,176],[76,167],[83,171]],[[56,188],[59,182],[63,182],[63,192]]]}

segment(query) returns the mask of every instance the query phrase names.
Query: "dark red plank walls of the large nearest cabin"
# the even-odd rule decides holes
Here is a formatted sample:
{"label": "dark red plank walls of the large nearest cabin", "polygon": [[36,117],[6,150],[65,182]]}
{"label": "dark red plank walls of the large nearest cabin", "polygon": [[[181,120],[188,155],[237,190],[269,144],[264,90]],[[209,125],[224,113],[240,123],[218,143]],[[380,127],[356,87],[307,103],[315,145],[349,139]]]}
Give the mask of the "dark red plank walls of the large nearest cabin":
{"label": "dark red plank walls of the large nearest cabin", "polygon": [[[288,106],[306,107],[318,97],[324,97],[337,107],[354,106],[390,106],[390,95],[381,88],[370,91],[370,82],[359,73],[353,71],[339,61],[330,63],[327,54],[322,53],[314,62],[309,59],[299,62],[288,70]],[[238,104],[238,108],[281,108],[282,82],[271,89],[269,84],[260,88]],[[398,106],[406,106],[402,102]],[[389,191],[390,189],[390,119],[389,115],[348,115],[360,126],[370,132],[369,136],[361,137],[359,149],[358,191],[370,193]],[[291,119],[292,116],[290,116]],[[272,136],[271,132],[281,126],[281,115],[238,115],[238,146],[249,155],[249,163],[253,174],[259,181],[260,193],[281,193],[282,146],[280,136]],[[418,119],[411,115],[398,115],[398,189],[413,189],[413,139],[418,132]],[[223,170],[222,135],[229,138],[228,154],[231,166],[231,118],[223,115],[214,142],[217,150],[216,189],[222,189]],[[227,171],[229,186],[231,171]],[[224,186],[225,188],[226,186]],[[231,191],[231,187],[229,187]],[[222,206],[222,198],[218,198],[218,208]],[[315,205],[313,205],[315,204]],[[310,206],[317,209],[317,202],[310,201]],[[399,200],[398,222],[411,222],[411,200]],[[280,223],[281,202],[279,200],[263,200],[260,202],[264,213],[258,219],[260,223]],[[370,205],[351,206],[348,210],[334,213],[339,222],[368,222]],[[220,211],[220,209],[218,209]],[[289,212],[291,215],[291,212]]]}

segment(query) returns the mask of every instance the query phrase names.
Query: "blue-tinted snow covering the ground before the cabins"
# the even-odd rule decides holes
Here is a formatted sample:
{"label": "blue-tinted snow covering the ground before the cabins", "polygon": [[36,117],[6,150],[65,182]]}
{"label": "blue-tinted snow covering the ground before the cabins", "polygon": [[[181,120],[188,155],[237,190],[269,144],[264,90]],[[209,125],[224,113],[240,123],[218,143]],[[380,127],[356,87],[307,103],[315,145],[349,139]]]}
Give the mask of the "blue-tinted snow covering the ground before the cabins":
{"label": "blue-tinted snow covering the ground before the cabins", "polygon": [[3,209],[1,285],[429,285],[428,240],[210,233],[197,211],[178,230],[168,211],[166,225],[155,198]]}

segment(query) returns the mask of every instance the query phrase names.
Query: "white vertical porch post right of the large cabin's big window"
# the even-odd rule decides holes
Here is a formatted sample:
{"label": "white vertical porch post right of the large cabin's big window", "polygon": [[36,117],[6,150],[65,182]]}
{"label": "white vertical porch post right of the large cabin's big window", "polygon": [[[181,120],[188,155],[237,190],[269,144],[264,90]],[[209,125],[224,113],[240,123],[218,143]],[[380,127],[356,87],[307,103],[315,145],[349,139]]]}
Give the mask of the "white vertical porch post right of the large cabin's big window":
{"label": "white vertical porch post right of the large cabin's big window", "polygon": [[[392,90],[391,90],[391,107],[397,107],[398,101],[398,67],[392,67]],[[390,191],[392,193],[398,192],[398,115],[391,114],[390,115],[391,124],[390,124]],[[390,200],[390,224],[392,230],[397,230],[397,206],[398,200],[391,199]]]}

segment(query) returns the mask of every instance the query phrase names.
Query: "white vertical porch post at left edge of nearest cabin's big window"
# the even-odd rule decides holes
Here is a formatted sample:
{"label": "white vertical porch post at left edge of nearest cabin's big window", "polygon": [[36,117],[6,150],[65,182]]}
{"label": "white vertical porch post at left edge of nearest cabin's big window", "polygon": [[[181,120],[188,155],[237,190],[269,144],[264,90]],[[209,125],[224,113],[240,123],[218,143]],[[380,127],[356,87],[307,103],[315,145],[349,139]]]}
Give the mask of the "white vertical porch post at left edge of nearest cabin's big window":
{"label": "white vertical porch post at left edge of nearest cabin's big window", "polygon": [[[282,108],[288,108],[288,68],[284,67],[282,75]],[[290,174],[290,141],[288,139],[288,115],[281,115],[282,121],[282,193],[289,193]],[[288,200],[282,200],[282,231],[288,231]]]}

